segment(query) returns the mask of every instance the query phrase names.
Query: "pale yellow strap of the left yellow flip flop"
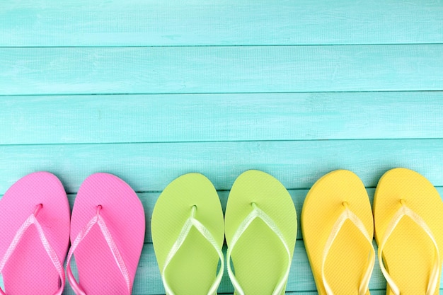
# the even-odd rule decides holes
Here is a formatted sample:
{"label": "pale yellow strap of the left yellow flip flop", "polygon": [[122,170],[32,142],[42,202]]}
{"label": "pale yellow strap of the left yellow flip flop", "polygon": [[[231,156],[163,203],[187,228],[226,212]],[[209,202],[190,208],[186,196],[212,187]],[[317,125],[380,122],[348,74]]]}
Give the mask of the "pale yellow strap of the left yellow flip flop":
{"label": "pale yellow strap of the left yellow flip flop", "polygon": [[375,250],[372,246],[372,237],[369,236],[369,233],[367,232],[366,227],[364,226],[361,219],[358,218],[357,215],[352,212],[349,207],[347,207],[347,202],[343,202],[343,207],[345,207],[345,210],[343,211],[340,216],[338,216],[337,221],[335,221],[335,224],[332,227],[332,230],[330,232],[330,235],[328,236],[328,239],[326,240],[325,248],[323,249],[323,258],[321,262],[321,278],[323,279],[323,286],[326,289],[326,294],[333,295],[332,289],[330,289],[330,286],[328,284],[328,281],[326,280],[325,275],[325,264],[326,264],[326,258],[328,257],[330,247],[333,245],[335,238],[337,238],[338,233],[343,227],[343,224],[345,224],[345,221],[350,220],[352,223],[359,229],[359,231],[362,232],[364,238],[366,238],[367,242],[371,246],[370,250],[370,258],[369,258],[369,265],[367,267],[367,270],[364,272],[362,277],[362,282],[360,282],[358,294],[364,295],[367,293],[368,287],[369,287],[369,279],[371,279],[372,270],[374,270],[374,263],[375,263]]}

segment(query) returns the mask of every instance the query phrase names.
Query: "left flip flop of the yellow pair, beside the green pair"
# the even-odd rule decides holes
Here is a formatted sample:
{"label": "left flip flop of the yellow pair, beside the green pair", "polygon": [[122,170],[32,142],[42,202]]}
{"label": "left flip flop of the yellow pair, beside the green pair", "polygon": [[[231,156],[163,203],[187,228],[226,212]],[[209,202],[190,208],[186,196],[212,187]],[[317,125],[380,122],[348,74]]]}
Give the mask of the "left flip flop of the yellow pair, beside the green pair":
{"label": "left flip flop of the yellow pair, beside the green pair", "polygon": [[357,175],[335,170],[311,187],[301,231],[318,294],[369,294],[374,269],[374,221]]}

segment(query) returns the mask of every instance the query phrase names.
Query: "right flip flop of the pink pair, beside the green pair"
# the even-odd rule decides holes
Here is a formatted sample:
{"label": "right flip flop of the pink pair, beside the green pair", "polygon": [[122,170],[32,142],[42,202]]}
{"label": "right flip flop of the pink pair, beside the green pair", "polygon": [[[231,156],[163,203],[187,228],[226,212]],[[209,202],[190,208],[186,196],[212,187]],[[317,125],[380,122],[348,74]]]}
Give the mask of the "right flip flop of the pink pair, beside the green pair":
{"label": "right flip flop of the pink pair, beside the green pair", "polygon": [[[144,209],[134,190],[108,173],[84,180],[71,215],[69,284],[79,295],[132,293],[144,243]],[[71,272],[74,254],[79,283]]]}

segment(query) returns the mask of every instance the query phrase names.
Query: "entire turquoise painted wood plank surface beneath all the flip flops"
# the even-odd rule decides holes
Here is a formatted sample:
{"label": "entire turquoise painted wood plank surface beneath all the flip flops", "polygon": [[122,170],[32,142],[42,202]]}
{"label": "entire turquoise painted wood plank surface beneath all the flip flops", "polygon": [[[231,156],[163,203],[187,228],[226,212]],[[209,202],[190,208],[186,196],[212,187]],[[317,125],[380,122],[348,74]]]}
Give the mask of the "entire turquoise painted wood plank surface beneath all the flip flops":
{"label": "entire turquoise painted wood plank surface beneath all the flip flops", "polygon": [[[164,294],[151,214],[184,173],[225,208],[240,173],[264,170],[298,218],[338,168],[371,202],[394,167],[443,195],[443,2],[0,1],[0,120],[0,196],[48,170],[72,206],[91,173],[120,176],[146,212],[133,294]],[[297,239],[287,294],[317,294]],[[369,287],[386,294],[378,262]]]}

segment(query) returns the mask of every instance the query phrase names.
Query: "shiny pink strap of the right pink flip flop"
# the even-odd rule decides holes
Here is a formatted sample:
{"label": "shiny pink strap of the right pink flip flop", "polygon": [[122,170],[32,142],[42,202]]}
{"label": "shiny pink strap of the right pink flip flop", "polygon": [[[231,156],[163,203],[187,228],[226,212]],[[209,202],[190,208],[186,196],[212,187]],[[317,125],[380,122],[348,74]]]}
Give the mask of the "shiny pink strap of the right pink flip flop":
{"label": "shiny pink strap of the right pink flip flop", "polygon": [[86,238],[88,233],[91,231],[92,227],[97,224],[98,227],[100,228],[101,233],[103,233],[103,237],[105,238],[106,243],[108,243],[111,253],[113,253],[115,263],[117,264],[117,267],[119,268],[123,279],[125,279],[127,294],[131,294],[132,283],[131,283],[130,273],[127,270],[125,261],[123,261],[122,255],[120,254],[120,250],[118,250],[117,244],[115,243],[113,236],[111,235],[108,229],[108,226],[106,226],[105,219],[103,219],[103,217],[100,215],[100,209],[101,205],[97,207],[96,216],[93,216],[93,218],[90,221],[88,221],[88,224],[86,224],[86,226],[83,229],[81,229],[79,234],[76,236],[74,243],[72,243],[71,248],[69,249],[68,260],[67,260],[67,274],[68,274],[69,284],[71,284],[71,287],[74,290],[75,294],[86,295],[86,292],[76,282],[76,279],[72,274],[71,258],[72,255],[74,254],[74,251],[81,243],[81,241],[83,241],[84,238]]}

